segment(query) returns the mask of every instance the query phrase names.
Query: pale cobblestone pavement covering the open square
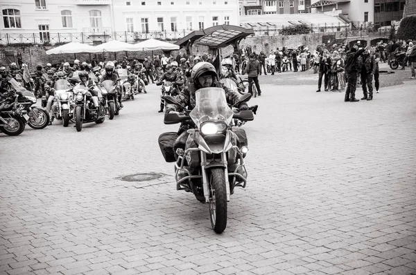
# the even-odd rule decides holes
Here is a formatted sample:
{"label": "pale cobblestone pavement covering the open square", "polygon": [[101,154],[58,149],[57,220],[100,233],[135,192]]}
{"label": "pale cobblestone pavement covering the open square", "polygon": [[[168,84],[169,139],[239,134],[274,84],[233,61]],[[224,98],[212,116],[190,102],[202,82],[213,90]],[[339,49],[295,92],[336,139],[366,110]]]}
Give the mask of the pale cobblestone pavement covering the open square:
{"label": "pale cobblestone pavement covering the open square", "polygon": [[80,133],[0,134],[0,274],[416,274],[415,85],[354,104],[263,85],[220,235],[175,189],[157,137],[177,126],[148,90]]}

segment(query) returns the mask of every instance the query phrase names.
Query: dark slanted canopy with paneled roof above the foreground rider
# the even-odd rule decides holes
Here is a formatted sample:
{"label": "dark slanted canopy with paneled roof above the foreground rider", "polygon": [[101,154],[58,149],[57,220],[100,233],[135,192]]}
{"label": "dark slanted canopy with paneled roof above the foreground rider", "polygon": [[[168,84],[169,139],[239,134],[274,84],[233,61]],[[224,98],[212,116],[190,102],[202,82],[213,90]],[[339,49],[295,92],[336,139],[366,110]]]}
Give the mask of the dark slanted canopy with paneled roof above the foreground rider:
{"label": "dark slanted canopy with paneled roof above the foreground rider", "polygon": [[237,51],[241,39],[249,35],[254,35],[253,29],[232,25],[220,25],[205,30],[195,30],[175,44],[187,47],[187,51],[189,52],[193,43],[205,45],[212,49],[232,45],[234,51]]}

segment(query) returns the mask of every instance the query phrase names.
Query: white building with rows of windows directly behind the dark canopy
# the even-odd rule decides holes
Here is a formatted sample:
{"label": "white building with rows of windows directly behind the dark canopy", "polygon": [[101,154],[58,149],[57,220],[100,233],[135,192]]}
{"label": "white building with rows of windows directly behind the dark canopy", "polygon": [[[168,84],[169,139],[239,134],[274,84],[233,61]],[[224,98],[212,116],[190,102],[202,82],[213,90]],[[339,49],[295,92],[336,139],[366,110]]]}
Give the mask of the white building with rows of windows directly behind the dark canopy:
{"label": "white building with rows of windows directly behind the dark canopy", "polygon": [[138,39],[177,39],[211,26],[239,26],[238,0],[113,0],[113,9],[114,30]]}

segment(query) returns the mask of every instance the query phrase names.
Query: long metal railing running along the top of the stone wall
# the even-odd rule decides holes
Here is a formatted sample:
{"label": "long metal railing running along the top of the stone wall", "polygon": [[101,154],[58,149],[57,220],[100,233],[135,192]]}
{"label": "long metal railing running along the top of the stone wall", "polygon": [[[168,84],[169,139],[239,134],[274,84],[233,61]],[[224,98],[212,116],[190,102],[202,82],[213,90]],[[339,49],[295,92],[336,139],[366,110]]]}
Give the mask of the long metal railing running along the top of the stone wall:
{"label": "long metal railing running along the top of the stone wall", "polygon": [[[284,26],[267,26],[265,23],[257,23],[248,25],[243,24],[248,28],[254,30],[254,36],[275,36],[282,35]],[[295,25],[293,25],[295,26]],[[379,28],[375,30],[371,22],[352,22],[350,24],[342,23],[323,23],[323,24],[309,24],[311,32],[339,32],[342,37],[363,37],[363,36],[384,36],[390,35],[390,30]],[[140,40],[149,38],[159,40],[173,40],[181,39],[192,30],[168,31],[162,32],[33,32],[24,34],[0,34],[0,45],[12,44],[44,44],[44,45],[60,45],[72,41],[78,41],[85,44],[101,44],[111,40],[125,41],[128,43],[135,43]],[[285,35],[295,35],[296,33],[287,33]]]}

